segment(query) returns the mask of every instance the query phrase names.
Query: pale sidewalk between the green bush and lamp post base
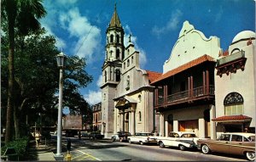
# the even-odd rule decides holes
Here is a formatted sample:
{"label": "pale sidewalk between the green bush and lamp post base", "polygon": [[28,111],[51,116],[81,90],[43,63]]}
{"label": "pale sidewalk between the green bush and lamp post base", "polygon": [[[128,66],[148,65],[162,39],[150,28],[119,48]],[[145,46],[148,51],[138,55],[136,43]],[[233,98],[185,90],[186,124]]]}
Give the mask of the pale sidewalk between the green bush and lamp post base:
{"label": "pale sidewalk between the green bush and lamp post base", "polygon": [[36,148],[36,142],[30,141],[28,156],[29,161],[55,161],[53,150],[55,150],[54,142],[40,142]]}

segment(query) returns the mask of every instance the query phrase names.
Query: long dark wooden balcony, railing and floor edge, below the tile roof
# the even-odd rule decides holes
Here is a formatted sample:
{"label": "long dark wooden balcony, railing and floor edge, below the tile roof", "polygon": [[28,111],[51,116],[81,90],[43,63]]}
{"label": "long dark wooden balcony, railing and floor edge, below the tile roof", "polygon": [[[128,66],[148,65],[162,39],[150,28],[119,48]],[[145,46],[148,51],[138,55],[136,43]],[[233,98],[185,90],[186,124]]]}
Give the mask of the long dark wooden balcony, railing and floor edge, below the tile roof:
{"label": "long dark wooden balcony, railing and floor edge, below the tile roof", "polygon": [[[192,90],[187,90],[183,92],[173,93],[165,97],[158,98],[156,100],[155,108],[172,106],[182,103],[193,103],[198,100],[205,100],[209,98],[214,98],[214,86],[209,85],[209,87],[195,87]],[[165,102],[166,101],[166,102]]]}

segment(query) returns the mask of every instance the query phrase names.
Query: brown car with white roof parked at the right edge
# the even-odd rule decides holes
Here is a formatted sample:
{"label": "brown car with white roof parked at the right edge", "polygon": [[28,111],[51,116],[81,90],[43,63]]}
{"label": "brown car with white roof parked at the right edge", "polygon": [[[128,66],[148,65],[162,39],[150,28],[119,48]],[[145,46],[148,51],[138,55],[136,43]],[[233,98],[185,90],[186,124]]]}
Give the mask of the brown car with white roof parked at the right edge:
{"label": "brown car with white roof parked at the right edge", "polygon": [[198,140],[197,148],[203,154],[219,152],[225,154],[245,155],[255,160],[255,134],[253,133],[222,133],[217,140]]}

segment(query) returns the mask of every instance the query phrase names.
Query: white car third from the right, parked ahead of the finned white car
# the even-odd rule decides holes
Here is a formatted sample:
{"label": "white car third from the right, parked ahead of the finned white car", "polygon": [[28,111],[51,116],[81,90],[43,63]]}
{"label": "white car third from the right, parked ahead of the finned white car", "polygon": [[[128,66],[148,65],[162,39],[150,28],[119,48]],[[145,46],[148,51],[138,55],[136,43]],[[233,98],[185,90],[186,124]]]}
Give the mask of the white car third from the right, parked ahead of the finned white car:
{"label": "white car third from the right, parked ahead of the finned white car", "polygon": [[154,137],[154,133],[150,132],[137,132],[135,136],[128,137],[128,142],[136,142],[140,144],[144,143],[156,143],[156,137]]}

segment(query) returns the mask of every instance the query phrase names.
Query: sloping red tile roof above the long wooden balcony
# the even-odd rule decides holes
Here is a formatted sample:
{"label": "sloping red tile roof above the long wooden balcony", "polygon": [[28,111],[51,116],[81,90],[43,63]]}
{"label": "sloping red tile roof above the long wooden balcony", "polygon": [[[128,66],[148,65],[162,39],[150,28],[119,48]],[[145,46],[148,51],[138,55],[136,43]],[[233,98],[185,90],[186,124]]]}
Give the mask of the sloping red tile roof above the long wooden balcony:
{"label": "sloping red tile roof above the long wooden balcony", "polygon": [[216,62],[211,56],[205,54],[205,55],[201,56],[200,58],[194,59],[187,64],[183,64],[183,65],[177,67],[176,69],[166,72],[165,74],[161,75],[158,79],[154,80],[151,84],[154,84],[155,82],[164,80],[172,75],[176,75],[177,73],[180,73],[183,70],[188,70],[189,68],[191,68],[197,64],[202,64],[203,62],[206,62],[206,61]]}

